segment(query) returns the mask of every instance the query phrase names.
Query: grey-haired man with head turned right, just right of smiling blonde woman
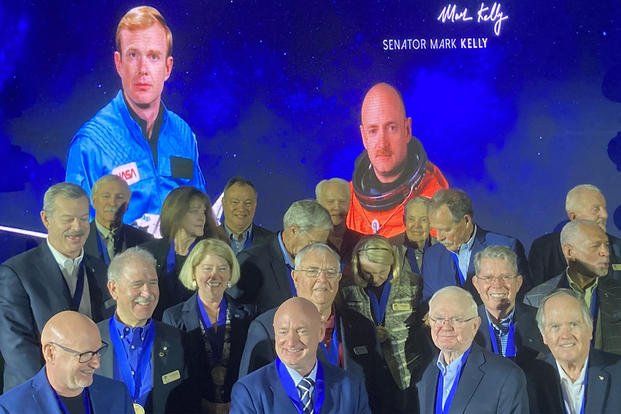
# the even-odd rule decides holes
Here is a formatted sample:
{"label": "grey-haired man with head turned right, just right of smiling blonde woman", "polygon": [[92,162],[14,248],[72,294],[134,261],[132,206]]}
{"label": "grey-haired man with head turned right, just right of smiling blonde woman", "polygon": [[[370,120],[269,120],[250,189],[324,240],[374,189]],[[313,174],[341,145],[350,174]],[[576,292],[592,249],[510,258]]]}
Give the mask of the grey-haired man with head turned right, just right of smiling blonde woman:
{"label": "grey-haired man with head turned right, just right of smiling blonde woman", "polygon": [[309,244],[325,243],[331,230],[330,215],[319,203],[294,202],[285,213],[282,231],[237,256],[241,278],[233,295],[255,304],[258,314],[296,296],[291,278],[295,255]]}

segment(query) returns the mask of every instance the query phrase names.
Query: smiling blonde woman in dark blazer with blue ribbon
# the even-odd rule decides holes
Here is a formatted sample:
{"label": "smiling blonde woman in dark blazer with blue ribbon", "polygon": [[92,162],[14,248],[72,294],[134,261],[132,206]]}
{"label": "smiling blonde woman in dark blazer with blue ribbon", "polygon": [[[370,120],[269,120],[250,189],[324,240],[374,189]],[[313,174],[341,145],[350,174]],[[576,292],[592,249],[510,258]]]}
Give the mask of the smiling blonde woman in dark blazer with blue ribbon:
{"label": "smiling blonde woman in dark blazer with blue ribbon", "polygon": [[181,269],[179,280],[195,291],[164,312],[163,321],[201,342],[205,351],[200,384],[207,413],[228,413],[241,354],[254,312],[237,304],[225,290],[239,280],[239,264],[228,244],[201,240]]}

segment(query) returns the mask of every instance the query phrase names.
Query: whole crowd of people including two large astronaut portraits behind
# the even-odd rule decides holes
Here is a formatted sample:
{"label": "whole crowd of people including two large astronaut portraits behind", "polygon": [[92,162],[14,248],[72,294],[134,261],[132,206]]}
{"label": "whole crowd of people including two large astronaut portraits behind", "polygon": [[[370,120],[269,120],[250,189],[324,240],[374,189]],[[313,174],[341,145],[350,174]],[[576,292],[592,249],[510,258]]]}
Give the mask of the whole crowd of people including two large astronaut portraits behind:
{"label": "whole crowd of people including two large astronaut portraits behind", "polygon": [[351,182],[322,180],[272,232],[234,177],[218,224],[161,103],[164,18],[130,10],[116,48],[123,88],[45,193],[47,240],[0,266],[0,412],[621,410],[621,240],[598,188],[571,189],[527,257],[447,188],[380,83]]}

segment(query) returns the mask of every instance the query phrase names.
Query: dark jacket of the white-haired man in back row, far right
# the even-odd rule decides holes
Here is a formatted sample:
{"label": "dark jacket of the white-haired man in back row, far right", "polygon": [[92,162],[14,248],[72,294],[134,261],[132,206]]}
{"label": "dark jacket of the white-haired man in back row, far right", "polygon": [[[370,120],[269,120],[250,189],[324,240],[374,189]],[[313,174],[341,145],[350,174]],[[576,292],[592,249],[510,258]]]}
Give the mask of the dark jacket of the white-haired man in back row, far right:
{"label": "dark jacket of the white-haired man in back row, far right", "polygon": [[[621,281],[621,239],[608,234],[608,243],[610,244],[608,276]],[[528,252],[528,264],[536,284],[564,272],[567,261],[561,249],[561,233],[549,233],[535,239]]]}

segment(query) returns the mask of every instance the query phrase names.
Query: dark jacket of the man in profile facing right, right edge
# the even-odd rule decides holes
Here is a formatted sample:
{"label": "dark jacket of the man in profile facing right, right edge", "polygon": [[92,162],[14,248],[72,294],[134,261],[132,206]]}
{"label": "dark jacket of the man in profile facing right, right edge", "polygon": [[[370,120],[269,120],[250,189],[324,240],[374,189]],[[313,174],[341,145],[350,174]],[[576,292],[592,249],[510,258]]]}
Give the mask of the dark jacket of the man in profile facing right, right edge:
{"label": "dark jacket of the man in profile facing right, right edge", "polygon": [[[524,303],[538,308],[547,295],[560,288],[569,289],[565,272],[533,288],[524,297]],[[602,334],[601,350],[621,355],[621,282],[601,277],[597,283],[597,299],[599,303],[597,323],[601,326]],[[599,334],[596,332],[596,335]]]}

